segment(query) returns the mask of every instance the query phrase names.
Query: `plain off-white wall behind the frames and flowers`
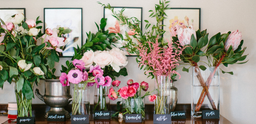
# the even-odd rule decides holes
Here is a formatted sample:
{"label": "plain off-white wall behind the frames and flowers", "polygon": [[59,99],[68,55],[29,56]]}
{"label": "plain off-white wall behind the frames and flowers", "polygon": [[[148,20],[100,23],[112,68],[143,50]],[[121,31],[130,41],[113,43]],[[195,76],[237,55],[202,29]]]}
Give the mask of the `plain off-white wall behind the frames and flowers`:
{"label": "plain off-white wall behind the frames and flowers", "polygon": [[[43,21],[43,8],[46,7],[82,7],[83,8],[83,31],[84,41],[86,32],[96,31],[94,22],[99,24],[103,17],[103,7],[96,3],[110,3],[112,6],[132,6],[143,7],[143,20],[154,20],[148,18],[154,4],[159,0],[1,0],[1,8],[26,8],[26,17],[28,19],[36,19],[40,16]],[[225,71],[233,71],[234,75],[221,74],[221,91],[220,91],[220,112],[225,118],[234,124],[253,124],[255,118],[256,103],[256,83],[254,71],[256,69],[256,56],[254,43],[255,40],[255,20],[256,20],[256,1],[255,0],[171,0],[170,7],[191,7],[201,8],[201,29],[209,32],[209,37],[218,32],[226,30],[236,30],[242,32],[242,39],[247,46],[245,54],[249,54],[247,59],[249,62],[243,65],[229,65],[228,68],[221,66]],[[145,26],[145,25],[144,25]],[[143,27],[144,28],[144,27]],[[62,58],[57,68],[60,70],[61,64],[67,58]],[[119,77],[125,85],[126,81],[132,78],[134,81],[141,82],[143,80],[150,83],[150,90],[154,88],[154,80],[147,79],[137,68],[135,57],[128,57],[128,76]],[[181,79],[175,83],[179,89],[178,103],[191,103],[191,74],[179,71],[182,75]],[[57,75],[60,75],[58,72]],[[71,86],[72,87],[72,86]],[[40,83],[38,87],[41,94],[44,94],[44,84]],[[93,89],[92,89],[93,91]],[[15,101],[14,91],[7,82],[4,84],[3,90],[0,90],[0,103]],[[93,99],[92,99],[93,101]],[[146,99],[147,101],[147,99]],[[33,99],[33,103],[44,103],[38,98]],[[115,103],[112,101],[111,103]],[[149,102],[147,102],[149,103]]]}

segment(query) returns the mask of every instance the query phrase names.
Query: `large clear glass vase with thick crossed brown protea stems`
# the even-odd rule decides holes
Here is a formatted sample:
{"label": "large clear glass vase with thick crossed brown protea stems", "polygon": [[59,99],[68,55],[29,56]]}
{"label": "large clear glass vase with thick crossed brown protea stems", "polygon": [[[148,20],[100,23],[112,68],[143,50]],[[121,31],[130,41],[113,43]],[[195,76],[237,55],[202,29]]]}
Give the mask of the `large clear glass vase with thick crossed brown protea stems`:
{"label": "large clear glass vase with thick crossed brown protea stems", "polygon": [[219,67],[192,67],[192,106],[193,118],[201,118],[202,110],[220,108],[220,73]]}

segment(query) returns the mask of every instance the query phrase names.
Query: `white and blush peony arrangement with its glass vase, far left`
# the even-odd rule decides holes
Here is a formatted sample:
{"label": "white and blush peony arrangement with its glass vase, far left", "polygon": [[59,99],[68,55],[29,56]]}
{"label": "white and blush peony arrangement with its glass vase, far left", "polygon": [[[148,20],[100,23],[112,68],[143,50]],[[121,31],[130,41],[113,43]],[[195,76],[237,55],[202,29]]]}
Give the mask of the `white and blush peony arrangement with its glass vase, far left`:
{"label": "white and blush peony arrangement with its glass vase, far left", "polygon": [[[0,87],[5,81],[14,84],[18,117],[32,116],[34,83],[37,85],[40,79],[56,78],[54,62],[59,62],[59,52],[52,49],[56,46],[51,40],[37,42],[44,35],[42,26],[36,26],[42,23],[38,18],[24,21],[24,15],[19,13],[9,21],[0,20]],[[45,34],[46,37],[49,35]]]}

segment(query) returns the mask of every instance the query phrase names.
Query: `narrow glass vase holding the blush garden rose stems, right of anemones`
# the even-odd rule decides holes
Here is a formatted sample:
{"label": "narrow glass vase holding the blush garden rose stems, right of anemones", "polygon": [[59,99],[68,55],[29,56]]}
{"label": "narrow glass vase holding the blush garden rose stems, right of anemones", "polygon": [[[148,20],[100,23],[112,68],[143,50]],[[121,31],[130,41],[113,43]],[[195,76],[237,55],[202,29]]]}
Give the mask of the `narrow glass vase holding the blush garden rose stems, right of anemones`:
{"label": "narrow glass vase holding the blush garden rose stems, right of anemones", "polygon": [[95,86],[94,111],[110,111],[107,86]]}

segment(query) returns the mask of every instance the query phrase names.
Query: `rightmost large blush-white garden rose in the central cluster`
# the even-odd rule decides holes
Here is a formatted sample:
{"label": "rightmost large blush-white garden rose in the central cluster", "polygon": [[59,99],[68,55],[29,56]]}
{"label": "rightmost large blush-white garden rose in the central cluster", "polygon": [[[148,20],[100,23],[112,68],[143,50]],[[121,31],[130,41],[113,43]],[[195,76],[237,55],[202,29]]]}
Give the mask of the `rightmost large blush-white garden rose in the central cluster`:
{"label": "rightmost large blush-white garden rose in the central cluster", "polygon": [[110,50],[110,54],[113,57],[113,63],[111,63],[111,66],[116,72],[120,71],[119,66],[126,66],[128,64],[127,56],[125,55],[125,52],[123,50],[113,48],[112,50]]}

